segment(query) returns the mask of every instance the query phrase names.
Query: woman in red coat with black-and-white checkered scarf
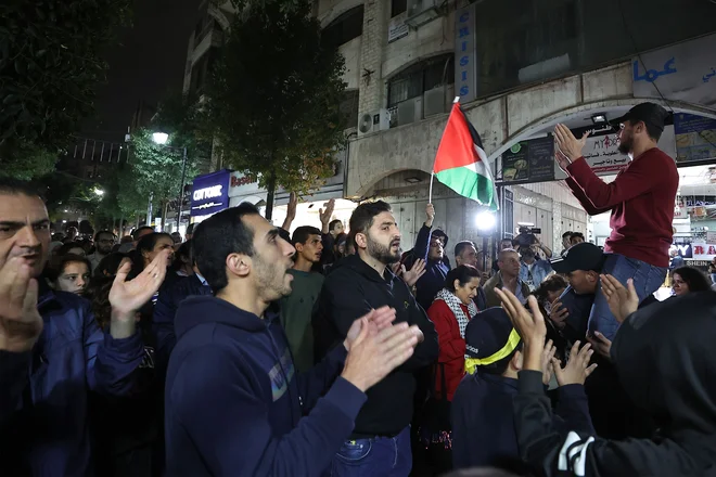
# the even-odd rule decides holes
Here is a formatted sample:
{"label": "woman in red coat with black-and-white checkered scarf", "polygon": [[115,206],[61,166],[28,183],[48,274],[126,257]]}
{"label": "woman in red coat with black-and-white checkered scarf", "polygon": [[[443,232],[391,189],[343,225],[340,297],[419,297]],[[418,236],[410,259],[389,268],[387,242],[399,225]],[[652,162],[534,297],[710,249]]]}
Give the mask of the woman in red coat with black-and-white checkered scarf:
{"label": "woman in red coat with black-and-white checkered scarf", "polygon": [[477,313],[473,298],[480,287],[480,270],[461,265],[450,270],[435,301],[427,309],[427,317],[435,324],[440,352],[435,373],[436,398],[442,397],[442,372],[445,372],[445,392],[449,401],[458,388],[465,366],[465,326]]}

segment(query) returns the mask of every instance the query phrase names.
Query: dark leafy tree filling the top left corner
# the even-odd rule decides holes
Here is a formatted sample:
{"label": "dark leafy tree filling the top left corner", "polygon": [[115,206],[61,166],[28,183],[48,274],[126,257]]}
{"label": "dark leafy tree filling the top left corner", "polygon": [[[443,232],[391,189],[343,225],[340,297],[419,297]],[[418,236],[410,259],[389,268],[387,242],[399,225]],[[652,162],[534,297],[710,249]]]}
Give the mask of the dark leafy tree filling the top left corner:
{"label": "dark leafy tree filling the top left corner", "polygon": [[[131,0],[0,2],[0,169],[51,170],[105,79],[102,52]],[[29,159],[29,160],[28,160]]]}

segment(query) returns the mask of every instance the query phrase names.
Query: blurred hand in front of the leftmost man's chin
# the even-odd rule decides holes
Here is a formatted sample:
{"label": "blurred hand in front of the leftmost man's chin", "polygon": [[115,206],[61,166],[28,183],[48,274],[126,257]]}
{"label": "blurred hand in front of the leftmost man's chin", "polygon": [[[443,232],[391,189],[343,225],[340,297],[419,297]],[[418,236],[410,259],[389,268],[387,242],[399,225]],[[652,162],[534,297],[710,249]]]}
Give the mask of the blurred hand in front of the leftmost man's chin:
{"label": "blurred hand in front of the leftmost man's chin", "polygon": [[22,257],[12,257],[0,268],[0,350],[29,351],[42,333],[37,311],[37,280]]}

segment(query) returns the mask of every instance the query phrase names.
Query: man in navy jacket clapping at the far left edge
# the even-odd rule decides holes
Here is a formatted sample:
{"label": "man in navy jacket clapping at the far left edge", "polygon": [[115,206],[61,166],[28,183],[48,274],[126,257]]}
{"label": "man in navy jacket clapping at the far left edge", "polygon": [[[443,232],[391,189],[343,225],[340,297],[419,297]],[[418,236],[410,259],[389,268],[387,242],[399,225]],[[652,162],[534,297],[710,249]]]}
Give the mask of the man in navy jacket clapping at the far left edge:
{"label": "man in navy jacket clapping at the far left edge", "polygon": [[104,333],[89,301],[44,284],[49,246],[42,199],[27,184],[0,180],[0,473],[7,476],[92,474],[88,392],[135,389],[144,359],[135,312],[166,273],[167,253],[131,282],[128,267],[120,270]]}

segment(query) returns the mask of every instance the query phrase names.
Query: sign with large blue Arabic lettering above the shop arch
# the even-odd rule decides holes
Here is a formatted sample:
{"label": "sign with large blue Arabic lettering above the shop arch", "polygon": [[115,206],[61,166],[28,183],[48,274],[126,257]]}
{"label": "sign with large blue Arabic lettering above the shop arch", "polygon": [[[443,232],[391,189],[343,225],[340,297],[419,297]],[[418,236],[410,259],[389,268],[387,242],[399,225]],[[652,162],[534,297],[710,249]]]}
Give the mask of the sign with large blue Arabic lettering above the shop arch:
{"label": "sign with large blue Arabic lettering above the shop arch", "polygon": [[[716,34],[631,60],[634,95],[716,104]],[[655,87],[659,87],[656,90]]]}

